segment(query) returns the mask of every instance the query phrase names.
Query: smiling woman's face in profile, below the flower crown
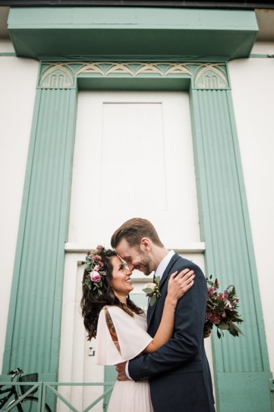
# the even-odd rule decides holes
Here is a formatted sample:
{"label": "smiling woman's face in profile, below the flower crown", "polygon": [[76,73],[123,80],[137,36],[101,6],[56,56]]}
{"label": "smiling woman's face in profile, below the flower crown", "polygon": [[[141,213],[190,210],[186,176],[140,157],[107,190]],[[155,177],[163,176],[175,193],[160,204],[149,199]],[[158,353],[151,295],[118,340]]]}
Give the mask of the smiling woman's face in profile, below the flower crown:
{"label": "smiling woman's face in profile, below the flower crown", "polygon": [[112,258],[112,267],[112,281],[110,282],[110,286],[112,286],[116,297],[121,301],[121,299],[127,297],[129,292],[133,290],[132,280],[130,279],[132,271],[125,268],[118,256]]}

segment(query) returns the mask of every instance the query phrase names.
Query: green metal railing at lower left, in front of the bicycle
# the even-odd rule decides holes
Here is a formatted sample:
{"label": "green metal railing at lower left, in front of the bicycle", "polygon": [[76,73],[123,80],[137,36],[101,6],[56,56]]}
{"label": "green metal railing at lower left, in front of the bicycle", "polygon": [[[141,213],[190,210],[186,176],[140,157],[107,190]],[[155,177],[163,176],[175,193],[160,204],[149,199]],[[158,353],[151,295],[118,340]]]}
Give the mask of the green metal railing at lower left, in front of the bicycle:
{"label": "green metal railing at lower left, in front of the bicycle", "polygon": [[[112,392],[113,386],[115,382],[1,382],[1,385],[5,386],[11,386],[15,385],[16,387],[19,387],[21,385],[29,385],[29,389],[22,395],[20,398],[8,407],[4,407],[1,409],[2,411],[9,412],[23,400],[27,396],[31,395],[34,391],[36,390],[36,393],[34,393],[34,396],[38,398],[37,402],[37,412],[44,412],[45,411],[45,404],[49,404],[49,407],[51,408],[51,411],[58,411],[58,408],[56,407],[57,400],[60,400],[63,404],[66,405],[66,407],[69,408],[70,411],[73,412],[88,412],[90,411],[95,405],[98,404],[102,399],[106,399],[108,395]],[[77,409],[75,405],[73,405],[68,399],[66,399],[62,393],[58,391],[59,387],[103,387],[103,393],[96,398],[95,400],[92,401],[86,407],[85,409]],[[18,391],[20,392],[20,390]],[[53,406],[54,405],[54,406]],[[103,405],[103,409],[105,408],[105,402]],[[102,410],[103,410],[102,409]]]}

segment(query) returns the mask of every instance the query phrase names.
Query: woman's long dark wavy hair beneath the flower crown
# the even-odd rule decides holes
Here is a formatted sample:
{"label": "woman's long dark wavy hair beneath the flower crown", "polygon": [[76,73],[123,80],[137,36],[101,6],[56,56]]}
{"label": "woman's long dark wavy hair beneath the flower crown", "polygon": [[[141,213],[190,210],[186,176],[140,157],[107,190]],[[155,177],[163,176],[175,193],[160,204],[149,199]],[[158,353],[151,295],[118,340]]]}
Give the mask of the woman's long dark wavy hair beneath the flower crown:
{"label": "woman's long dark wavy hair beneath the flower crown", "polygon": [[[112,258],[116,255],[116,252],[110,249],[105,250],[104,253],[101,253],[102,262],[104,264],[103,268],[106,272],[106,275],[103,277],[101,295],[97,293],[97,290],[89,290],[85,285],[82,288],[82,317],[84,318],[84,327],[86,332],[88,332],[88,341],[92,338],[96,338],[99,313],[101,312],[103,306],[118,306],[132,317],[133,313],[143,313],[143,310],[138,308],[138,306],[136,306],[134,302],[129,299],[129,296],[127,296],[127,303],[122,304],[118,297],[114,295],[114,291],[112,290],[110,283],[112,281],[113,271]],[[87,272],[84,271],[83,282],[86,275]]]}

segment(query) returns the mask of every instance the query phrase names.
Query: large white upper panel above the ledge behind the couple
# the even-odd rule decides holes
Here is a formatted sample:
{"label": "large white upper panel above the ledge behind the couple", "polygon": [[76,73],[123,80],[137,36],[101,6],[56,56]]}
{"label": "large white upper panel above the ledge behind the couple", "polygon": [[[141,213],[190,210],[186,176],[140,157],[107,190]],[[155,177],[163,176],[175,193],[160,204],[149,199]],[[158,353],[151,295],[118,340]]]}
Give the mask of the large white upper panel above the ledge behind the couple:
{"label": "large white upper panel above the ledge behind the couple", "polygon": [[199,242],[188,93],[80,92],[69,242],[109,245],[128,218]]}

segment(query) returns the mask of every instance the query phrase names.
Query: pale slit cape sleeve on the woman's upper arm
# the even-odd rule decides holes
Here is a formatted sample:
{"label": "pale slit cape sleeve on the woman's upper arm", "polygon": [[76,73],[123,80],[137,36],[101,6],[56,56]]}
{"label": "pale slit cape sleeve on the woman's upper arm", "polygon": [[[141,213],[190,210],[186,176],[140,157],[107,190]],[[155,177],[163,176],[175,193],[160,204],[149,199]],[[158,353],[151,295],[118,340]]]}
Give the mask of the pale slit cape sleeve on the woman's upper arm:
{"label": "pale slit cape sleeve on the woman's upper arm", "polygon": [[112,341],[105,321],[105,310],[101,310],[97,325],[95,363],[97,365],[116,365],[129,361],[140,354],[153,340],[132,318],[117,306],[108,307],[116,330],[120,352]]}

